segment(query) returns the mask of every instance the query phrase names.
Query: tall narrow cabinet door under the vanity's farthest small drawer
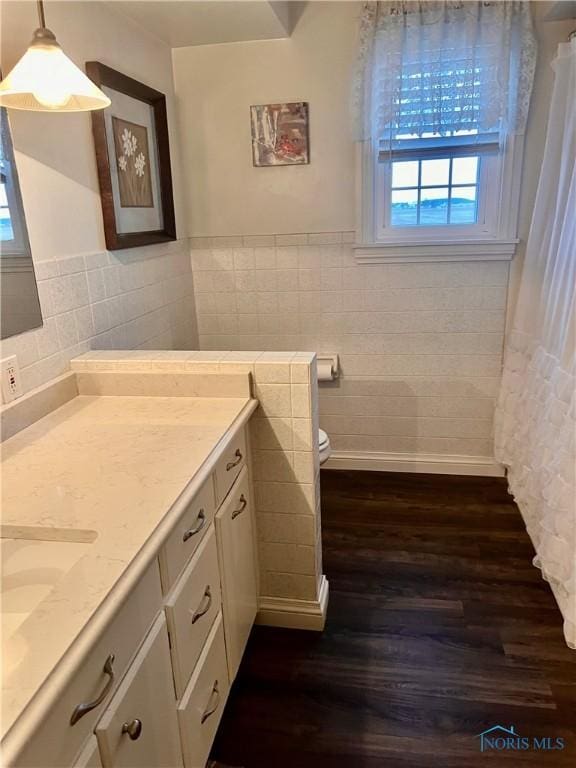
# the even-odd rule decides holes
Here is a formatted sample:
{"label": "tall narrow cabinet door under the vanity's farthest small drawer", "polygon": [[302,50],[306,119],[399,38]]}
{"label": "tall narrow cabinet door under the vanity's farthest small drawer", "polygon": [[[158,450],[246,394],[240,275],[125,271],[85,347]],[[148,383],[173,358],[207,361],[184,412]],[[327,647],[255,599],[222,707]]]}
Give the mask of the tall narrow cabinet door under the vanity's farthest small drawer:
{"label": "tall narrow cabinet door under the vanity's farthest small drawer", "polygon": [[216,515],[216,533],[226,653],[232,683],[257,610],[253,511],[246,467]]}

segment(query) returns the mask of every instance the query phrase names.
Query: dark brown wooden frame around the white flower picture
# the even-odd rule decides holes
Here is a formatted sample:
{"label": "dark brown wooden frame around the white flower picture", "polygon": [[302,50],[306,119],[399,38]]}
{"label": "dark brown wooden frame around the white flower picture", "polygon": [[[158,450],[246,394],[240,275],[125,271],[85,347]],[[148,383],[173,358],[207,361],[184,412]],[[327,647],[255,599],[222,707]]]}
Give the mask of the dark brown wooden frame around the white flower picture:
{"label": "dark brown wooden frame around the white flower picture", "polygon": [[[135,231],[126,231],[126,226],[121,226],[122,214],[127,209],[134,212],[138,209],[138,204],[124,205],[120,203],[117,181],[119,169],[116,167],[118,158],[116,156],[111,157],[111,147],[115,150],[116,144],[114,139],[110,138],[110,120],[111,118],[117,120],[118,124],[121,122],[128,124],[130,120],[122,114],[115,114],[119,110],[115,108],[113,98],[111,107],[108,107],[106,110],[100,109],[92,112],[92,133],[96,150],[106,248],[116,251],[122,248],[137,248],[143,245],[176,240],[166,96],[160,91],[156,91],[154,88],[150,88],[144,85],[144,83],[140,83],[138,80],[134,80],[121,72],[117,72],[115,69],[107,67],[98,61],[86,62],[86,73],[99,88],[112,89],[118,94],[124,94],[130,97],[130,99],[149,105],[153,119],[150,135],[155,137],[155,141],[153,146],[149,146],[148,143],[146,144],[146,151],[148,152],[149,163],[154,163],[156,179],[155,211],[161,225],[158,228],[142,229],[138,227]],[[144,130],[143,135],[147,137],[148,141],[146,129],[142,127],[142,130]],[[134,143],[136,145],[135,139]],[[125,163],[124,157],[121,160],[124,160]],[[113,174],[116,181],[113,181]],[[143,176],[143,174],[140,175]],[[148,172],[149,177],[150,173]],[[141,207],[146,208],[148,211],[150,210],[149,204],[141,204]]]}

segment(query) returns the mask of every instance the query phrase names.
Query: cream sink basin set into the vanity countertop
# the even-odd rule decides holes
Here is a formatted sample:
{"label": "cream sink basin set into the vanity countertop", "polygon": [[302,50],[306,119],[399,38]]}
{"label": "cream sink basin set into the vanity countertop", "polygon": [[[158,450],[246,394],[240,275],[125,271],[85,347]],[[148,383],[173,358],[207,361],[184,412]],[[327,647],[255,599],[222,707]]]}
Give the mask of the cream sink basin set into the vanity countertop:
{"label": "cream sink basin set into the vanity countertop", "polygon": [[96,531],[0,526],[5,639],[86,554],[96,537]]}

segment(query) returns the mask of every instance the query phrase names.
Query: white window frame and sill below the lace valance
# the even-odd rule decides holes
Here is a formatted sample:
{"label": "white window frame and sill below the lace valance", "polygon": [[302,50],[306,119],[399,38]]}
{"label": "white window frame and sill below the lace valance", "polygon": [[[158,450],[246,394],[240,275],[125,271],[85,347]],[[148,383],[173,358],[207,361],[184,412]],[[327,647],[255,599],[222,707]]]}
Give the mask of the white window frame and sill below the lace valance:
{"label": "white window frame and sill below the lace valance", "polygon": [[379,161],[377,142],[360,142],[356,260],[393,263],[512,259],[518,243],[523,148],[522,134],[508,134],[501,138],[497,155],[482,156],[482,201],[477,224],[390,227],[384,218],[389,210],[390,164]]}

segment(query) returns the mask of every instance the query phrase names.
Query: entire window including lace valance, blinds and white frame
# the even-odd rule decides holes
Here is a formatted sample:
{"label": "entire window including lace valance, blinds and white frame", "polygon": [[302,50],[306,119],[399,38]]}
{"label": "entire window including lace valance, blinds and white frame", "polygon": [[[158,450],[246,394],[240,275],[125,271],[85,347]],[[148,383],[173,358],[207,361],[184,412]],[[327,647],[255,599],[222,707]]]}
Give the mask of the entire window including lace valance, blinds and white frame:
{"label": "entire window including lace valance, blinds and white frame", "polygon": [[527,4],[398,1],[364,14],[360,250],[511,256],[534,65]]}

